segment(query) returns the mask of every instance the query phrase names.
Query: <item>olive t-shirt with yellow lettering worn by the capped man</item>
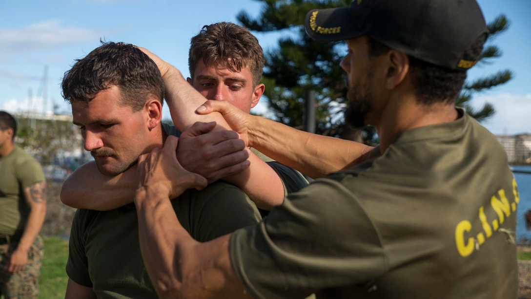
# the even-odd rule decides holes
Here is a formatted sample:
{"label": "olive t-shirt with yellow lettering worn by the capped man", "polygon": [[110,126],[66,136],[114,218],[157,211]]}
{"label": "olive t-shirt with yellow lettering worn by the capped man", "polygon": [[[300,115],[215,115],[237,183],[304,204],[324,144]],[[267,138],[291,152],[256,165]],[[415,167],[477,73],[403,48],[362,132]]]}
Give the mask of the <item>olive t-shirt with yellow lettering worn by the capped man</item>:
{"label": "olive t-shirt with yellow lettering worn by the capped man", "polygon": [[518,201],[502,146],[465,114],[288,195],[230,257],[256,298],[516,298]]}

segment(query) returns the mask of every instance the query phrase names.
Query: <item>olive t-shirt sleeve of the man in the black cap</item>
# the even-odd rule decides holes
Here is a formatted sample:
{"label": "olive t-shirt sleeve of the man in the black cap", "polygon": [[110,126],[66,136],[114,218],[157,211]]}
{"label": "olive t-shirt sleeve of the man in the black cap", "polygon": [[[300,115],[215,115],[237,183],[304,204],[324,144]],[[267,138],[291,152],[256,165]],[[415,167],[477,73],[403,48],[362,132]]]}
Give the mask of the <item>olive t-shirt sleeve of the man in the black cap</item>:
{"label": "olive t-shirt sleeve of the man in the black cap", "polygon": [[364,284],[385,269],[378,230],[347,188],[315,180],[288,195],[258,226],[230,239],[230,259],[256,298],[306,297]]}

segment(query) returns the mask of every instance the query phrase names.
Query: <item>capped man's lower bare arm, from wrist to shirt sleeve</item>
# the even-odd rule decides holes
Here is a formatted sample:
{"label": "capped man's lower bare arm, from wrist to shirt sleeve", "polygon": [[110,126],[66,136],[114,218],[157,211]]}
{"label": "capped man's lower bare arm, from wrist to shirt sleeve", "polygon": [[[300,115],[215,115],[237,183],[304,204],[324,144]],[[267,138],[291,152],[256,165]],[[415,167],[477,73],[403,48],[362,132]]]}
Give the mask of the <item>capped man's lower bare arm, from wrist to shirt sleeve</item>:
{"label": "capped man's lower bare arm, from wrist to shirt sleeve", "polygon": [[145,187],[134,200],[142,258],[158,296],[218,298],[234,289],[243,296],[228,259],[229,235],[207,243],[195,241],[162,194],[160,188]]}

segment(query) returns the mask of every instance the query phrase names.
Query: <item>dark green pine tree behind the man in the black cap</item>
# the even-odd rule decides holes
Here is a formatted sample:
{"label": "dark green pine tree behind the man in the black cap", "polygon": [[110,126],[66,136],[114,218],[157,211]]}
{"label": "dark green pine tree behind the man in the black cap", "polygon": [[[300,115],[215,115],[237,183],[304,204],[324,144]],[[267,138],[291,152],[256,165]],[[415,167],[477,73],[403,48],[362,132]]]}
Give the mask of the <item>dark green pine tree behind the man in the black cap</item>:
{"label": "dark green pine tree behind the man in the black cap", "polygon": [[[251,31],[281,31],[286,34],[278,41],[278,48],[265,53],[262,83],[264,96],[273,118],[288,126],[302,129],[304,103],[309,90],[315,91],[315,130],[317,134],[376,142],[374,128],[367,126],[362,131],[352,131],[344,123],[346,108],[346,74],[340,67],[346,53],[343,42],[322,43],[311,39],[303,26],[305,15],[312,9],[343,7],[350,0],[258,0],[262,9],[256,18],[245,11],[237,15],[238,21]],[[509,27],[504,15],[488,24],[491,32],[487,43]],[[490,63],[501,51],[490,44],[485,47],[478,63]],[[494,114],[491,104],[473,109],[469,104],[473,95],[483,90],[504,84],[512,78],[509,70],[466,82],[456,104],[463,106],[473,117],[485,120]]]}

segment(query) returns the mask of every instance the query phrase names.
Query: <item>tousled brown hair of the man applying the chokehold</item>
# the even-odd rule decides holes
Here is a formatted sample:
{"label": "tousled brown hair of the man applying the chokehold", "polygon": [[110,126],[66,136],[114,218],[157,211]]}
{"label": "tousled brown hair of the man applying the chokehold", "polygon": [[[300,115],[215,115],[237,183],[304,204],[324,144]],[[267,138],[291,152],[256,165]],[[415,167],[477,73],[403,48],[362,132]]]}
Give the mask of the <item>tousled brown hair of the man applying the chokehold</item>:
{"label": "tousled brown hair of the man applying the chokehold", "polygon": [[194,78],[196,63],[202,59],[205,65],[219,63],[231,71],[249,68],[253,85],[259,84],[264,67],[264,54],[258,39],[246,28],[230,22],[203,26],[190,41],[188,66]]}

